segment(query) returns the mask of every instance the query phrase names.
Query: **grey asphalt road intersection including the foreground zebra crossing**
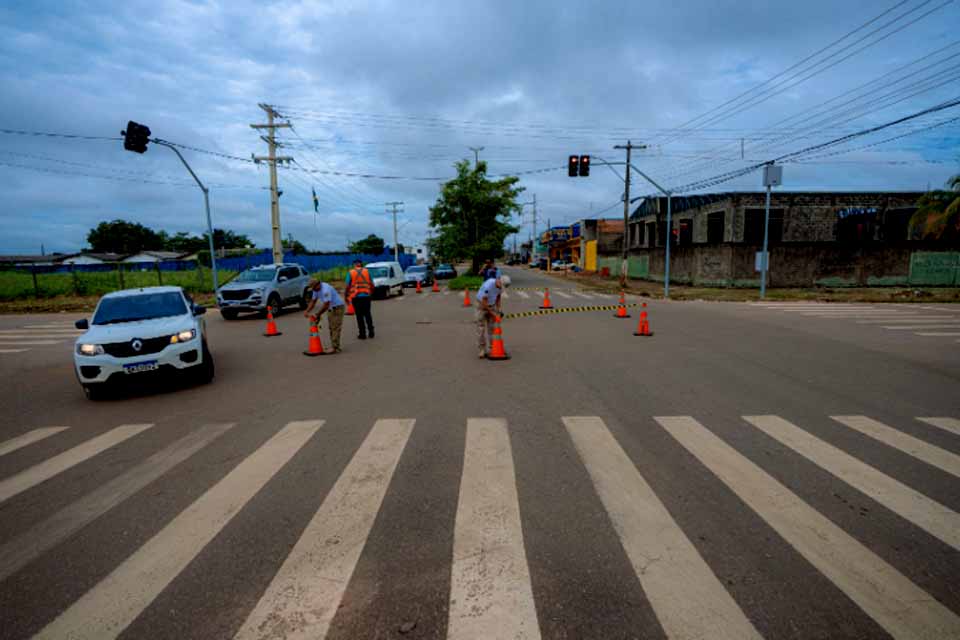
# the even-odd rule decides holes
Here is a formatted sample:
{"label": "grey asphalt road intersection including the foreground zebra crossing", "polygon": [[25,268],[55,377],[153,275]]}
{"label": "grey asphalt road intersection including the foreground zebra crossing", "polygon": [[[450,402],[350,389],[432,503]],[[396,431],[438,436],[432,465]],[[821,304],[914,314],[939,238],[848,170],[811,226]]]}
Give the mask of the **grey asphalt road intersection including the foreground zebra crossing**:
{"label": "grey asphalt road intersection including the foreground zebra crossing", "polygon": [[648,301],[492,362],[461,295],[322,358],[211,312],[211,385],[96,403],[78,316],[0,317],[0,637],[960,637],[960,309]]}

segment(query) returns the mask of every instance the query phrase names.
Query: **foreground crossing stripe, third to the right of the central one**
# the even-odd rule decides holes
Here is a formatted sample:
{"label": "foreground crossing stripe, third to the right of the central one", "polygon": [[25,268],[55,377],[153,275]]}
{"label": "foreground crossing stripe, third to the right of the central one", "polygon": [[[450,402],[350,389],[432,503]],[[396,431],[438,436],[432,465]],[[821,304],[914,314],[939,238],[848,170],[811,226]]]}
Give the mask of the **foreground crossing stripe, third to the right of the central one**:
{"label": "foreground crossing stripe, third to the right of the central one", "polygon": [[778,416],[743,419],[857,491],[960,549],[960,514]]}

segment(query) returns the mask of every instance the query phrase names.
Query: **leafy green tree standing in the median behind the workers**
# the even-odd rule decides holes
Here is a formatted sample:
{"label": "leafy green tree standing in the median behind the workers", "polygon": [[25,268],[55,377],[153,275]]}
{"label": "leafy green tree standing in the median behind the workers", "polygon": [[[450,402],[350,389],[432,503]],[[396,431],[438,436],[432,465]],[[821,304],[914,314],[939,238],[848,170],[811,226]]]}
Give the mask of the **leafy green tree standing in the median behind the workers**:
{"label": "leafy green tree standing in the median behind the workers", "polygon": [[520,178],[487,179],[487,163],[474,167],[469,160],[456,165],[457,177],[444,183],[430,208],[430,226],[436,232],[430,248],[442,260],[469,259],[477,273],[480,262],[503,255],[503,241],[517,231],[510,217],[520,213]]}

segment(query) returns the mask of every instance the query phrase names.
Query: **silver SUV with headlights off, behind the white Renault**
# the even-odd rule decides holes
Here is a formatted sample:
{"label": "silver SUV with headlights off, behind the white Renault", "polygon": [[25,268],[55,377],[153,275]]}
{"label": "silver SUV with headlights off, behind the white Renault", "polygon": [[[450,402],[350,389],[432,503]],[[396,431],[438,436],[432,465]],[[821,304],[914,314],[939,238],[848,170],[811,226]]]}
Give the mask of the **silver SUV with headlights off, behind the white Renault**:
{"label": "silver SUV with headlights off, behind the white Renault", "polygon": [[242,311],[267,313],[285,305],[307,308],[310,276],[298,264],[269,264],[242,272],[217,291],[217,305],[224,320],[235,320]]}

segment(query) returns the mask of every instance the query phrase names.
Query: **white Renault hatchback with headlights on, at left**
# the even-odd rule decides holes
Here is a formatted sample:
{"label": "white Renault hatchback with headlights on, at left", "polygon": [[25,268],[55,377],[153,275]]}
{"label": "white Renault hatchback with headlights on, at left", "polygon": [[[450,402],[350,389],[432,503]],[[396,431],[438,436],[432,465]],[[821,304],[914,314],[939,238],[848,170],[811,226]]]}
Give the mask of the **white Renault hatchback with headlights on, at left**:
{"label": "white Renault hatchback with headlights on, at left", "polygon": [[93,319],[76,323],[86,330],[73,350],[84,393],[96,400],[114,383],[159,373],[213,380],[206,311],[180,287],[125,289],[100,298]]}

